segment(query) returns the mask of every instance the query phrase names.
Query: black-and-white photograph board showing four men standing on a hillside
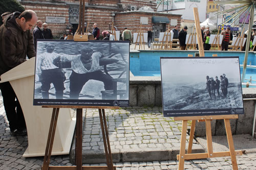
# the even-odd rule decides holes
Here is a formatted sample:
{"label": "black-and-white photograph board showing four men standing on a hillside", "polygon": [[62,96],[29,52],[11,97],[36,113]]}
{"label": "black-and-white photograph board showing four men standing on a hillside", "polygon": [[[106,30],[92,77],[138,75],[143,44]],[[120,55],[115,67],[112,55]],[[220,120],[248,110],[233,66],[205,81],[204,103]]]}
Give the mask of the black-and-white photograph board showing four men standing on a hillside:
{"label": "black-and-white photograph board showing four men standing on a hillside", "polygon": [[243,114],[238,57],[161,57],[164,116]]}

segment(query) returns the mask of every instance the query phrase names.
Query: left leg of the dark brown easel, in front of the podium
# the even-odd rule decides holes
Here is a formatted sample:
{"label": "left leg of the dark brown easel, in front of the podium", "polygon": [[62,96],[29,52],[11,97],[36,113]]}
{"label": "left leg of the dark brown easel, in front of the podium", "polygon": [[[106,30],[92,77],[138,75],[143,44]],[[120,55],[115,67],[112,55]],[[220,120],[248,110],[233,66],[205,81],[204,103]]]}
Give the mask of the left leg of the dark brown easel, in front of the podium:
{"label": "left leg of the dark brown easel, in front of the podium", "polygon": [[42,170],[49,169],[50,158],[52,155],[53,140],[54,140],[55,130],[57,126],[58,114],[59,114],[59,108],[53,108],[52,119],[50,123],[48,139],[46,144],[46,153],[44,157],[44,163],[42,164]]}

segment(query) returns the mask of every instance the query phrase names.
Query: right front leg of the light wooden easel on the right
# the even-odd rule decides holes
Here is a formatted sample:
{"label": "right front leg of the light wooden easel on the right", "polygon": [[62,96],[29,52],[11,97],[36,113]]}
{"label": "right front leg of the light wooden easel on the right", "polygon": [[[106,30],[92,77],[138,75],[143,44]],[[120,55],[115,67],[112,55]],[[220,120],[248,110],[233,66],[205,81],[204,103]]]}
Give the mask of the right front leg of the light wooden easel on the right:
{"label": "right front leg of the light wooden easel on the right", "polygon": [[232,166],[233,166],[233,169],[238,169],[236,154],[234,153],[234,143],[233,143],[233,138],[232,138],[229,119],[224,119],[224,122],[225,122],[225,128],[226,128],[226,133],[227,133],[227,141],[228,141],[228,147],[229,147]]}

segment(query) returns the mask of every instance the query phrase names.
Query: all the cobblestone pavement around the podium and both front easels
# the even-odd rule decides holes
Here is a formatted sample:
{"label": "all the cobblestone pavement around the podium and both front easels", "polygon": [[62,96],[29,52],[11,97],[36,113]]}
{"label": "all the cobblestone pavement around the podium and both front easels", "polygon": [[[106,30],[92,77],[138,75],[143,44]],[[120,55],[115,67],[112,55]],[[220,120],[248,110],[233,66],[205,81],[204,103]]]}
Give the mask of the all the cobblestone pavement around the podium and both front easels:
{"label": "all the cobblestone pavement around the podium and both front easels", "polygon": [[[181,122],[164,118],[161,108],[125,108],[108,110],[110,139],[113,150],[122,148],[179,147]],[[118,112],[118,114],[117,114]],[[161,120],[161,121],[160,121]],[[90,139],[83,139],[83,149],[99,149],[99,118],[96,111],[87,110],[84,133]],[[170,129],[169,126],[172,126]],[[137,127],[137,129],[131,127]],[[154,127],[154,128],[153,128]],[[91,128],[91,129],[90,129]],[[166,129],[167,128],[167,129]],[[89,132],[91,134],[89,134]],[[95,137],[94,137],[95,136]],[[89,141],[90,140],[90,141]],[[89,143],[89,144],[87,144]],[[94,144],[91,144],[94,143]],[[13,136],[8,127],[6,114],[0,98],[0,169],[40,169],[43,157],[23,158],[28,146],[27,136]],[[86,148],[90,147],[90,148]],[[50,165],[73,165],[69,155],[52,156]],[[256,169],[256,153],[237,156],[239,169]],[[83,164],[105,165],[105,164]],[[149,161],[114,163],[117,169],[177,169],[178,161]],[[232,169],[230,157],[185,161],[186,169]]]}

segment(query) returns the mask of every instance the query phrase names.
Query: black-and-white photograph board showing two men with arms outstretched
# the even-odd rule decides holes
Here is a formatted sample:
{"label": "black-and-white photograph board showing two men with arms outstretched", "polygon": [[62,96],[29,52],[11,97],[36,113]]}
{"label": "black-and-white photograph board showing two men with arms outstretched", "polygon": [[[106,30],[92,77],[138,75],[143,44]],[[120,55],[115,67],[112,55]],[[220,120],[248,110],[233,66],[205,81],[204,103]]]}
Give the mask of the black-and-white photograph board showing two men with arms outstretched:
{"label": "black-and-white photograph board showing two men with arms outstretched", "polygon": [[126,41],[38,40],[34,105],[129,106]]}

